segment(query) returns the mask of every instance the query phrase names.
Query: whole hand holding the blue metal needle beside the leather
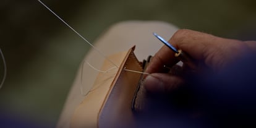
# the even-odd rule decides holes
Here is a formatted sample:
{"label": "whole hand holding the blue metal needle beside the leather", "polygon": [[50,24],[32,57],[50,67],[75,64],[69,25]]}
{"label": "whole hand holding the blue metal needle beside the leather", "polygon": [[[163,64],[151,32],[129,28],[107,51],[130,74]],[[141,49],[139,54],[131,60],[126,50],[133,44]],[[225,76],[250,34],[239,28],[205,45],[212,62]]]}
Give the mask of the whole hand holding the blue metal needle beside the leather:
{"label": "whole hand holding the blue metal needle beside the leather", "polygon": [[[213,72],[222,70],[245,56],[244,54],[256,49],[256,41],[220,38],[192,30],[178,30],[168,42],[175,48],[185,51],[196,62],[202,63],[198,64],[198,69],[209,69]],[[185,82],[181,76],[166,74],[164,66],[173,67],[179,61],[174,54],[167,46],[163,46],[151,59],[145,70],[150,75],[143,84],[149,92],[170,92]]]}

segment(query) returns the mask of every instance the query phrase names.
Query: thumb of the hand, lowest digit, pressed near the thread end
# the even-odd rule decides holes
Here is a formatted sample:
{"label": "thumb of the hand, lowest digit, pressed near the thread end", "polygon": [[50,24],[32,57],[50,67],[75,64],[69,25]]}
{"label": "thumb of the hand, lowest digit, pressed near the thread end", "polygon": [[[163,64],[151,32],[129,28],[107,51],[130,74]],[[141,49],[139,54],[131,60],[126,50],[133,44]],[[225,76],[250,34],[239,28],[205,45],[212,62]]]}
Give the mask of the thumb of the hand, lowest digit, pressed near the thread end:
{"label": "thumb of the hand, lowest digit, pressed near the thread end", "polygon": [[184,84],[184,80],[176,75],[153,73],[143,81],[143,86],[151,93],[171,92]]}

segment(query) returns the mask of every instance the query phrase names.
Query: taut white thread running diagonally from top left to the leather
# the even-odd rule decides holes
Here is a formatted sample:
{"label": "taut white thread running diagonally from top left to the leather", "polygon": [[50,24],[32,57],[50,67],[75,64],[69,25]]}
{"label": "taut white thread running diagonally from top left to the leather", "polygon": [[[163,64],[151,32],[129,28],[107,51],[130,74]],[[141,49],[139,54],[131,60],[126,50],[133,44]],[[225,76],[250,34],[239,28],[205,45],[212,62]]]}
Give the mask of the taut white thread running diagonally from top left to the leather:
{"label": "taut white thread running diagonally from top left to the leather", "polygon": [[[99,54],[101,54],[101,56],[103,56],[105,59],[107,59],[109,62],[111,62],[111,64],[113,64],[114,66],[118,67],[116,64],[114,64],[113,61],[111,61],[110,59],[108,59],[105,54],[101,53],[101,51],[99,49],[97,49],[95,46],[92,45],[92,43],[90,43],[87,39],[85,39],[82,35],[80,35],[74,28],[72,28],[67,22],[65,22],[63,19],[61,19],[61,17],[59,17],[59,15],[57,15],[55,12],[53,12],[51,9],[49,9],[48,6],[46,6],[43,2],[39,1],[43,6],[46,7],[46,9],[48,9],[52,14],[54,14],[56,17],[58,17],[59,20],[61,20],[63,23],[65,23],[65,25],[67,25],[67,27],[69,27],[73,32],[75,32],[77,35],[80,36],[80,38],[82,38],[85,42],[87,42],[90,46],[92,46],[93,49],[95,49]],[[119,68],[119,67],[118,67]]]}

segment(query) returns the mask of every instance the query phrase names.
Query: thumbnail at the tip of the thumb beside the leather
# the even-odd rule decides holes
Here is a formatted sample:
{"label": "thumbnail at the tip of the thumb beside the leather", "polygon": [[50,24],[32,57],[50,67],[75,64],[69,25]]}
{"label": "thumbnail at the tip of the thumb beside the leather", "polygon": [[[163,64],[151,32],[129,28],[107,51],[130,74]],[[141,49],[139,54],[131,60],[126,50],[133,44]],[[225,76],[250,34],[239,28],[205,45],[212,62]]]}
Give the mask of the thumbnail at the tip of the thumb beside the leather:
{"label": "thumbnail at the tip of the thumb beside the leather", "polygon": [[146,79],[143,82],[143,85],[149,92],[164,92],[163,82],[160,79],[153,77],[152,75],[148,75],[146,77]]}

